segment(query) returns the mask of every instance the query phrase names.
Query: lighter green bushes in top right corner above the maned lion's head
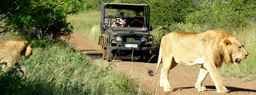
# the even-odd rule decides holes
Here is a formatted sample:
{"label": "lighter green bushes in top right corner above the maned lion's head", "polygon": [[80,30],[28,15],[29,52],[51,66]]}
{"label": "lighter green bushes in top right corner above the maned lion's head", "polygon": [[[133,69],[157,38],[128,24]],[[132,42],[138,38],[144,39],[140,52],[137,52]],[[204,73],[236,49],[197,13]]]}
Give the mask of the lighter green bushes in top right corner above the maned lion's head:
{"label": "lighter green bushes in top right corner above the maned lion's head", "polygon": [[186,22],[232,29],[255,21],[256,2],[253,0],[207,0],[199,3],[197,11],[187,16]]}

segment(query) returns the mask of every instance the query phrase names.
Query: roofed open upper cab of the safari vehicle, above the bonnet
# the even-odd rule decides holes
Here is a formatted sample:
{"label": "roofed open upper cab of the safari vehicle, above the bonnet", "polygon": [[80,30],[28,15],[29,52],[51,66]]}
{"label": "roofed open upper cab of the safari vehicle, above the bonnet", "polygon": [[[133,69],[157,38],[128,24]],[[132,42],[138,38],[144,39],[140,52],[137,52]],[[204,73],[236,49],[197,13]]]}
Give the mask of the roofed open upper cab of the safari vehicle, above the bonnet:
{"label": "roofed open upper cab of the safari vehicle, above the bonnet", "polygon": [[150,31],[147,4],[105,3],[101,8],[101,31]]}

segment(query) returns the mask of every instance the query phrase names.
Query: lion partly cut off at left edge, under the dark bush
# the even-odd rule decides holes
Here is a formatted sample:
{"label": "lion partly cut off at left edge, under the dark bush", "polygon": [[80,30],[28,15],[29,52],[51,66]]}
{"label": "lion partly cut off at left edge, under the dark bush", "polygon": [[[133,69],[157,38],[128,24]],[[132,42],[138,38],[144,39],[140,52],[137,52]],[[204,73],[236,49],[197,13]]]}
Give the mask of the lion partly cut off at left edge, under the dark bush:
{"label": "lion partly cut off at left edge, under the dark bush", "polygon": [[[0,63],[3,63],[2,69],[7,66],[11,68],[20,60],[20,56],[24,55],[29,58],[32,55],[31,45],[27,45],[26,40],[7,40],[5,42],[0,42]],[[18,66],[21,72],[27,73],[24,67]]]}

